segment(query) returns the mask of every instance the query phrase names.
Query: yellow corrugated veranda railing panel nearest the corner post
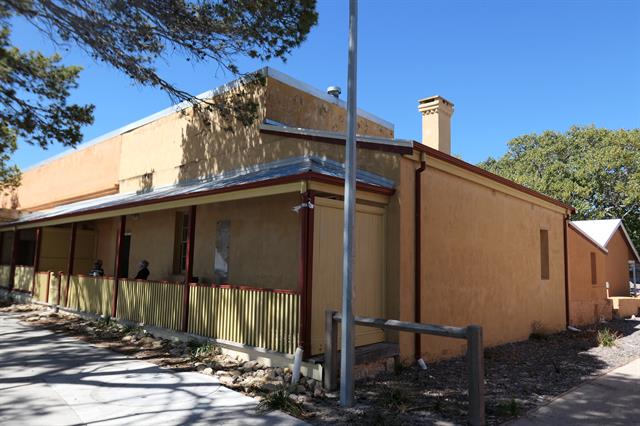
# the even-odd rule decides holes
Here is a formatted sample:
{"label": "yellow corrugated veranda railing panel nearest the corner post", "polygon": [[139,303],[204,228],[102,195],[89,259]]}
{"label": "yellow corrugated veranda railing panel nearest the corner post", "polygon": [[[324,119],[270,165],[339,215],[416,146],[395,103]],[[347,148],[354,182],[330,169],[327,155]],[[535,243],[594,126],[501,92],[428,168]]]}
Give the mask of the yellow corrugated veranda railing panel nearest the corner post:
{"label": "yellow corrugated veranda railing panel nearest the corner post", "polygon": [[293,353],[298,345],[300,295],[284,290],[192,285],[189,332]]}

